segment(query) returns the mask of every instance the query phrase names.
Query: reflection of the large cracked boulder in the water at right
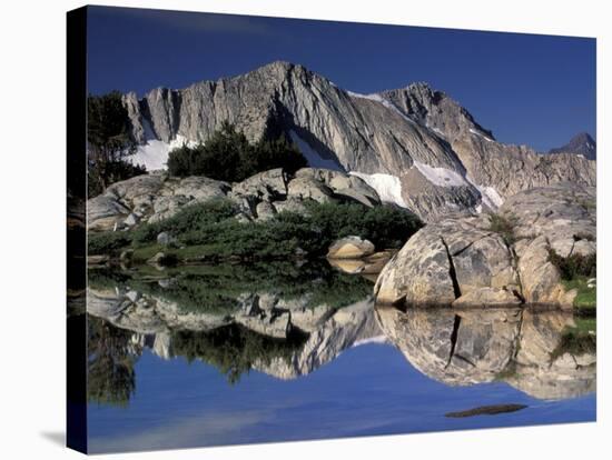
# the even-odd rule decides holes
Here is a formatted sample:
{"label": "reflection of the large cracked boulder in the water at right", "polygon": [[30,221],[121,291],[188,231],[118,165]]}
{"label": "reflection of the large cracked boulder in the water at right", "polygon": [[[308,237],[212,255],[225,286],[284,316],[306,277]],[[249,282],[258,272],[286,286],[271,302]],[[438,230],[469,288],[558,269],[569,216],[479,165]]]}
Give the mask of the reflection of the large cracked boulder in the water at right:
{"label": "reflection of the large cracked boulder in the water at right", "polygon": [[377,306],[388,340],[427,377],[452,386],[505,381],[539,399],[595,391],[593,353],[552,360],[571,314],[529,309],[407,309]]}

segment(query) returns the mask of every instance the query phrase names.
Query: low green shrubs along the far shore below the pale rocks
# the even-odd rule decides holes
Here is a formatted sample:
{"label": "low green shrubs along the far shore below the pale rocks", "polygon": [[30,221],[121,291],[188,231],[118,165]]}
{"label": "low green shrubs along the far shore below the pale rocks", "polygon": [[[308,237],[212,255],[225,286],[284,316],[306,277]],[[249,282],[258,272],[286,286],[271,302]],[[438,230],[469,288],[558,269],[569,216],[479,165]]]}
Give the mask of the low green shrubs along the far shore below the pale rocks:
{"label": "low green shrubs along the far shore below the pale rocks", "polygon": [[422,227],[404,209],[359,203],[313,201],[307,203],[305,216],[282,212],[263,222],[239,222],[235,219],[237,212],[227,199],[187,206],[169,219],[142,223],[129,233],[97,234],[89,253],[111,253],[130,243],[148,248],[159,232],[167,231],[177,243],[164,252],[176,253],[179,259],[283,259],[299,251],[318,257],[336,239],[351,234],[368,239],[379,249],[398,248]]}

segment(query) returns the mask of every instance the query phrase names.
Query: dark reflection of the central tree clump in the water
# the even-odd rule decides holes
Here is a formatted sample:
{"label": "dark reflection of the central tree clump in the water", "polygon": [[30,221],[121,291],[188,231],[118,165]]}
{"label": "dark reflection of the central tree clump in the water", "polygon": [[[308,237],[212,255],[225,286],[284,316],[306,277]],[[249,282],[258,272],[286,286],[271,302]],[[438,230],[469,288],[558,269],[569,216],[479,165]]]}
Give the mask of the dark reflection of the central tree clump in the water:
{"label": "dark reflection of the central tree clump in the water", "polygon": [[229,324],[208,332],[176,331],[171,343],[175,356],[189,362],[200,359],[236,383],[255,362],[269,364],[273,359],[289,360],[306,341],[307,336],[295,332],[287,339],[276,339]]}

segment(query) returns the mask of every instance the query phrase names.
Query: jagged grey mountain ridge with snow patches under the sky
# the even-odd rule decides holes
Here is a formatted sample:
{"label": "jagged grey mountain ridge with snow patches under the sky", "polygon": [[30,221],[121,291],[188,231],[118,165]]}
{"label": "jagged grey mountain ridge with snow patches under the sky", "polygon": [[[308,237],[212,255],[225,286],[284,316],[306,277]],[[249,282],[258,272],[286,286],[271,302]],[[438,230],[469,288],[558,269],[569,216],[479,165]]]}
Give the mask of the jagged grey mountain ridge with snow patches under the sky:
{"label": "jagged grey mountain ridge with snow patches under the sky", "polygon": [[[225,120],[250,140],[270,126],[280,128],[344,171],[399,180],[403,199],[396,197],[396,203],[425,220],[496,208],[520,190],[559,181],[595,184],[592,161],[502,144],[456,101],[424,83],[356,94],[302,66],[273,62],[182,90],[158,88],[139,101],[130,93],[125,104],[142,144],[206,141]],[[378,183],[377,191],[386,189]]]}

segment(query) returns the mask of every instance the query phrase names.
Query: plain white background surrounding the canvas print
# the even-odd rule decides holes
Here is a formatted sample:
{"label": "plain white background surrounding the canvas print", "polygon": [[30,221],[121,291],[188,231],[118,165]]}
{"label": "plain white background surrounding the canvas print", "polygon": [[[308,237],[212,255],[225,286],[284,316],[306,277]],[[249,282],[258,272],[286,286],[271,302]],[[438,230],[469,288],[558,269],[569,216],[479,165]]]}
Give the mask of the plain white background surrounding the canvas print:
{"label": "plain white background surrounding the canvas print", "polygon": [[[598,423],[196,449],[126,459],[610,458],[612,324],[608,158],[612,14],[604,1],[148,0],[98,4],[598,37]],[[6,1],[0,13],[0,457],[79,458],[65,430],[65,12],[69,0]],[[608,139],[606,139],[608,138]],[[36,282],[33,282],[36,280]],[[603,281],[603,282],[602,282]],[[609,304],[610,303],[610,304]]]}

